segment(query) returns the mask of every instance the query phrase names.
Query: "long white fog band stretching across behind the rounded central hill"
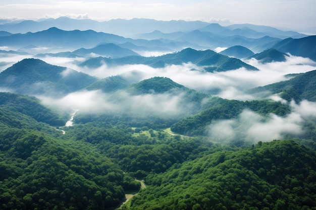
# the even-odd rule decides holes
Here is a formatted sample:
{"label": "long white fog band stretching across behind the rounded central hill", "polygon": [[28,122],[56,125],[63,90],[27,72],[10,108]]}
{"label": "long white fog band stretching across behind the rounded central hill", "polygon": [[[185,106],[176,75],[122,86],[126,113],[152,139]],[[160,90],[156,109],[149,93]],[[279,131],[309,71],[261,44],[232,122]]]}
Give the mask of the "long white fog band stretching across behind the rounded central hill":
{"label": "long white fog band stretching across behind the rounded central hill", "polygon": [[77,65],[84,61],[85,58],[56,58],[46,56],[41,59],[48,63],[66,66],[100,79],[135,71],[140,73],[139,79],[136,82],[156,76],[167,77],[188,88],[236,100],[256,99],[255,96],[245,94],[245,90],[288,80],[289,77],[285,77],[288,74],[305,73],[316,69],[316,62],[309,58],[293,55],[286,57],[286,61],[284,62],[260,63],[254,58],[244,60],[246,63],[257,67],[259,71],[248,71],[245,68],[239,68],[232,71],[215,73],[205,72],[203,66],[197,66],[192,63],[167,65],[163,68],[152,68],[143,64],[108,66],[106,63],[103,63],[100,67],[89,68]]}

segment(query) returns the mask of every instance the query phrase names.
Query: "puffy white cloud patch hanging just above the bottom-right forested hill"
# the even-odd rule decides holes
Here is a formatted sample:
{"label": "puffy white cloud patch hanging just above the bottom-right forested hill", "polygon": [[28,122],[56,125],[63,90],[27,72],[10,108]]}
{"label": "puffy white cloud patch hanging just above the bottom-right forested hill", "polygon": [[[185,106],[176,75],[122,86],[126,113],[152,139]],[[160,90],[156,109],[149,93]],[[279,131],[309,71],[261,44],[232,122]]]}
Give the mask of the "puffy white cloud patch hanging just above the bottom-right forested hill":
{"label": "puffy white cloud patch hanging just above the bottom-right forested hill", "polygon": [[230,143],[244,141],[249,144],[283,139],[285,134],[301,134],[303,118],[298,113],[284,117],[270,114],[261,116],[244,110],[237,118],[221,120],[210,124],[207,129],[212,141]]}

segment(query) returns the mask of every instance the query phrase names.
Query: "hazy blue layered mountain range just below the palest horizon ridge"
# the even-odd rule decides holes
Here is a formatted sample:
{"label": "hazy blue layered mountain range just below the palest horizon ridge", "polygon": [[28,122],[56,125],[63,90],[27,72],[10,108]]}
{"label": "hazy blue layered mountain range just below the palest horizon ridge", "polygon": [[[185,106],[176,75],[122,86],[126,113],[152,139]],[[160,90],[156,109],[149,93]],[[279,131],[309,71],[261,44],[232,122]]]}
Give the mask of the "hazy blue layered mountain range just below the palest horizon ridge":
{"label": "hazy blue layered mountain range just below the palest horizon ridge", "polygon": [[[260,27],[259,29],[262,30]],[[62,49],[76,50],[82,47],[93,48],[104,43],[121,44],[123,48],[129,48],[131,50],[135,50],[136,52],[173,52],[187,47],[194,49],[215,49],[217,47],[232,47],[235,45],[241,45],[258,53],[268,48],[275,48],[274,46],[285,38],[300,39],[302,37],[306,37],[306,35],[296,36],[293,33],[290,33],[288,36],[278,36],[269,33],[262,34],[261,32],[258,33],[259,35],[257,36],[248,36],[243,33],[238,34],[238,31],[236,31],[235,34],[227,33],[227,30],[230,29],[218,24],[210,24],[204,29],[187,29],[172,33],[163,33],[156,30],[147,35],[143,34],[134,36],[134,39],[132,39],[111,33],[96,32],[93,30],[65,31],[56,27],[51,27],[43,31],[28,32],[25,34],[11,34],[3,32],[3,36],[0,36],[0,45],[20,49],[20,51],[24,52],[30,52],[25,48],[28,46],[35,46],[33,48],[49,48],[46,49],[46,52],[61,52]],[[266,31],[269,31],[270,33],[275,31],[276,34],[281,33],[280,30],[273,30],[271,28]],[[29,48],[29,50],[30,49],[31,48]]]}

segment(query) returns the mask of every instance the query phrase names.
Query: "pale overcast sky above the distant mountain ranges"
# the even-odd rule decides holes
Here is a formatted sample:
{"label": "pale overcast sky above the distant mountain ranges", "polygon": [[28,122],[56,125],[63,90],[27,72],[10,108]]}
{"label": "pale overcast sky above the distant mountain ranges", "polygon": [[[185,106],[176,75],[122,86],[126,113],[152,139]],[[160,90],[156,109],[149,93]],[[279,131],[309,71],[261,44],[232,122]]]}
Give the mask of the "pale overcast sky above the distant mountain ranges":
{"label": "pale overcast sky above the distant mountain ranges", "polygon": [[1,0],[0,19],[149,18],[156,20],[201,20],[221,25],[250,23],[306,32],[316,28],[315,0],[136,0],[61,1]]}

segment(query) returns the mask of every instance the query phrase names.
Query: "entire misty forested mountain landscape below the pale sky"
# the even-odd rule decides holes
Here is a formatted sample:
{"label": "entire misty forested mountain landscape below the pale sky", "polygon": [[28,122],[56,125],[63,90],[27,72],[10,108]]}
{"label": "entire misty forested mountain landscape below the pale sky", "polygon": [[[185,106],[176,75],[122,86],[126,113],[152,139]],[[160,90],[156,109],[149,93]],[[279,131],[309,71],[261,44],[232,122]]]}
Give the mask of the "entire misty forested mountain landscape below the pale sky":
{"label": "entire misty forested mountain landscape below the pale sky", "polygon": [[64,21],[0,24],[1,209],[316,209],[316,36]]}

